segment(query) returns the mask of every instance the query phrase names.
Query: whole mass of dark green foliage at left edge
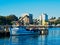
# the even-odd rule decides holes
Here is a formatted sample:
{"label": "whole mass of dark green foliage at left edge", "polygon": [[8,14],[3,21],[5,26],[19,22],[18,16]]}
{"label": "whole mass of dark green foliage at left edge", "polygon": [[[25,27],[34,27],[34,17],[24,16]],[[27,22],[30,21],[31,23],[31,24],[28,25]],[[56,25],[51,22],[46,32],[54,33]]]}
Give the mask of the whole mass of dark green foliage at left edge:
{"label": "whole mass of dark green foliage at left edge", "polygon": [[9,16],[0,16],[0,25],[11,25],[12,21],[17,21],[18,17],[15,15],[9,15]]}

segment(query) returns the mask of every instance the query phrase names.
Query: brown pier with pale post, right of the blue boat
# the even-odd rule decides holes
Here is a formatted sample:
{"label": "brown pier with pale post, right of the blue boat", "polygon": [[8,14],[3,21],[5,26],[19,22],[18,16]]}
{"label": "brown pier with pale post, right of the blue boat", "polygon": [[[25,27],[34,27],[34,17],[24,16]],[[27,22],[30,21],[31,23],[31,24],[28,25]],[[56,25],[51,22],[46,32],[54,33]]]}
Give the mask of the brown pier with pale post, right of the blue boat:
{"label": "brown pier with pale post, right of the blue boat", "polygon": [[26,26],[26,29],[33,30],[33,31],[39,31],[40,35],[48,35],[48,26],[30,25],[30,26]]}

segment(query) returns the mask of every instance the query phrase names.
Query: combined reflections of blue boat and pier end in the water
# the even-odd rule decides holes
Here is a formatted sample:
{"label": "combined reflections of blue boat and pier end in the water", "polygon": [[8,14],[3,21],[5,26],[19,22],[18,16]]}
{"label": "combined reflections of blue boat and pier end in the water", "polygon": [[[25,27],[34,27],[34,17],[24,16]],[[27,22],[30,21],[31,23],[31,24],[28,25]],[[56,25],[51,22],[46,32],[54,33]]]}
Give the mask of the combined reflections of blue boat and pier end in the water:
{"label": "combined reflections of blue boat and pier end in the water", "polygon": [[47,45],[46,35],[11,36],[11,45]]}

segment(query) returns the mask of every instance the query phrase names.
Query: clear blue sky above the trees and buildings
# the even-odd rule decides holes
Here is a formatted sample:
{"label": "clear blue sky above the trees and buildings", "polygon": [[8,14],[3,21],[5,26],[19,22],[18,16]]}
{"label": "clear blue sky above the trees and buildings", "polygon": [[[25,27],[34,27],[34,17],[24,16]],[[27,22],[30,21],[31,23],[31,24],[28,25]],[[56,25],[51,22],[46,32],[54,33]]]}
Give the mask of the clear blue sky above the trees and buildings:
{"label": "clear blue sky above the trees and buildings", "polygon": [[42,13],[47,13],[49,18],[60,17],[60,0],[0,0],[0,15],[20,17],[23,13],[31,13],[34,18]]}

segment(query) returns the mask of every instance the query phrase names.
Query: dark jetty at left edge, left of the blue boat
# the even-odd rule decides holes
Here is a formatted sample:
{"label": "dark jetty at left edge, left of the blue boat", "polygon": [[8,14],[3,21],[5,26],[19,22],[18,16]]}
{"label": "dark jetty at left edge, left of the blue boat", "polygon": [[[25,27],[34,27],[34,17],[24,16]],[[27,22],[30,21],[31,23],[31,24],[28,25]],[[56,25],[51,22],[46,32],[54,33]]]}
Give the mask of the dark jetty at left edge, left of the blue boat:
{"label": "dark jetty at left edge, left of the blue boat", "polygon": [[9,37],[10,31],[8,25],[0,26],[0,37]]}

